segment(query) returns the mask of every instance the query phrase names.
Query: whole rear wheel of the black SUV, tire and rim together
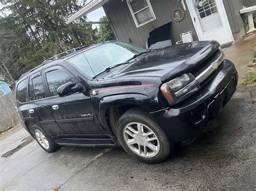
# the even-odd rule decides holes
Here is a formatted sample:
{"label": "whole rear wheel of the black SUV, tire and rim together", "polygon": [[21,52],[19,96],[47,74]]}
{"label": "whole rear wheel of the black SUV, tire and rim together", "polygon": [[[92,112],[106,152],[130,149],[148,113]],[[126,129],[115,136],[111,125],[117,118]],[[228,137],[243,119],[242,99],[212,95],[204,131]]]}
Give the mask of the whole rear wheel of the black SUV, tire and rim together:
{"label": "whole rear wheel of the black SUV, tire and rim together", "polygon": [[40,126],[36,124],[33,125],[32,132],[38,145],[40,145],[43,148],[43,150],[49,153],[58,150],[59,145],[57,145],[53,138],[47,135],[47,133]]}

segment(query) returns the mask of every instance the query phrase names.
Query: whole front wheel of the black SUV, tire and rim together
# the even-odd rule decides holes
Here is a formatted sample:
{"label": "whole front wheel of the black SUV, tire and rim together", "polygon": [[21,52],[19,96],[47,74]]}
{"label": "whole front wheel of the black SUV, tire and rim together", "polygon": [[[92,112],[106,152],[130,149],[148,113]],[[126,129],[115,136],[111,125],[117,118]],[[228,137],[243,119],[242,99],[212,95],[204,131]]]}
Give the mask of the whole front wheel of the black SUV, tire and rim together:
{"label": "whole front wheel of the black SUV, tire and rim together", "polygon": [[[120,117],[117,138],[127,153],[147,164],[164,161],[174,147],[157,122],[147,112],[137,108],[126,111]],[[149,141],[151,139],[154,140]]]}

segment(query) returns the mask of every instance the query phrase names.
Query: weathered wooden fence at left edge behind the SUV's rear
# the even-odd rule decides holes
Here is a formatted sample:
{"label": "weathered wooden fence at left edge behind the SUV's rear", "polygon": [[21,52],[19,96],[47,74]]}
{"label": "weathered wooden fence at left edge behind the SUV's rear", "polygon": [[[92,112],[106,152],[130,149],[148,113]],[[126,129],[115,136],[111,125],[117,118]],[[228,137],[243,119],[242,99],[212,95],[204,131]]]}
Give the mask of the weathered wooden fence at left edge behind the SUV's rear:
{"label": "weathered wooden fence at left edge behind the SUV's rear", "polygon": [[0,97],[0,130],[21,123],[15,106],[14,91]]}

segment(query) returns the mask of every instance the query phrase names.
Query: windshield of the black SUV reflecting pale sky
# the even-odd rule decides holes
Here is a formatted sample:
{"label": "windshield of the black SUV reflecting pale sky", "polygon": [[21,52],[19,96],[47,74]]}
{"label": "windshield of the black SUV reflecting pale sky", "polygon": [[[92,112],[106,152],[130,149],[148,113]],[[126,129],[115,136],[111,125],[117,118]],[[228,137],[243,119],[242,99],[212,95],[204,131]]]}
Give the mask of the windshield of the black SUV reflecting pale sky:
{"label": "windshield of the black SUV reflecting pale sky", "polygon": [[118,65],[134,55],[147,51],[146,48],[125,43],[123,41],[112,41],[73,56],[69,61],[83,73],[93,77],[110,66]]}

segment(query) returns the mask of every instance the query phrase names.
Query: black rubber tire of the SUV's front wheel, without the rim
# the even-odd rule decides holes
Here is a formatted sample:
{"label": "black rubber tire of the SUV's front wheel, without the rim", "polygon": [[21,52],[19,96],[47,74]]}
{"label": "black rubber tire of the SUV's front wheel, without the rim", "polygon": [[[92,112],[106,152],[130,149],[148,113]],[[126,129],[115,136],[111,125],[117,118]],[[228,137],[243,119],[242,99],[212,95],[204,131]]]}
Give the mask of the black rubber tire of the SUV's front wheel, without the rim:
{"label": "black rubber tire of the SUV's front wheel, without the rim", "polygon": [[[151,158],[145,158],[141,157],[138,154],[134,153],[129,146],[126,145],[124,137],[123,137],[123,131],[127,124],[137,122],[142,123],[146,126],[148,126],[157,136],[160,144],[160,150],[157,155]],[[150,118],[149,114],[143,111],[137,111],[137,110],[129,110],[123,114],[118,123],[117,123],[117,138],[124,148],[124,150],[129,153],[132,157],[136,158],[137,160],[144,162],[144,163],[158,163],[163,160],[165,160],[171,149],[170,141],[167,138],[165,132],[160,128],[160,126],[154,121],[154,119]]]}

